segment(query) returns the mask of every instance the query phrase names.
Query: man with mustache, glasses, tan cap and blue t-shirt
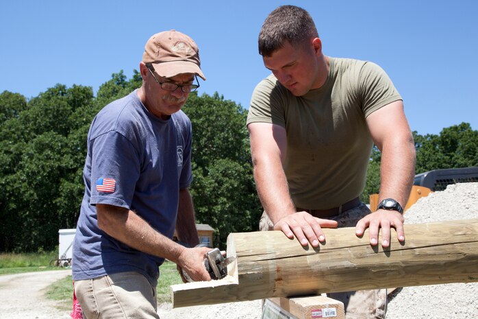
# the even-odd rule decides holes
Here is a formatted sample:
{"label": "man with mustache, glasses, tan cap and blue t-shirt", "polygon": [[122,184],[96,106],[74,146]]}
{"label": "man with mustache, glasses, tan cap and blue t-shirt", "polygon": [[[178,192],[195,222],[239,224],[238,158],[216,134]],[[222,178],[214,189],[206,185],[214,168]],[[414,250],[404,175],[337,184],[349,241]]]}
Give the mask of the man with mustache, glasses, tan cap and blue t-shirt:
{"label": "man with mustache, glasses, tan cap and blue t-shirt", "polygon": [[169,259],[210,280],[188,187],[192,128],[181,111],[203,78],[199,49],[171,30],[149,38],[142,86],[105,106],[88,132],[85,195],[73,246],[75,294],[86,318],[159,318],[155,288]]}

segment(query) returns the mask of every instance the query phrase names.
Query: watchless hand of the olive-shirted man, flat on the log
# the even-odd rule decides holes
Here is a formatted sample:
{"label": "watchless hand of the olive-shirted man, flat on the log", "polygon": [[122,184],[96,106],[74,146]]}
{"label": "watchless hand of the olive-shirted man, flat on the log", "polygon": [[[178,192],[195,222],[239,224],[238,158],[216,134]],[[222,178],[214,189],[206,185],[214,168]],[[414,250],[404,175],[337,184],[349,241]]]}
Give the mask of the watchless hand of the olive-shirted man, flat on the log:
{"label": "watchless hand of the olive-shirted man, flat on the log", "polygon": [[275,223],[274,230],[282,231],[290,239],[297,237],[302,246],[308,243],[312,247],[318,247],[318,242],[325,241],[325,235],[321,227],[336,228],[335,220],[323,220],[310,215],[306,211],[299,211],[283,217]]}

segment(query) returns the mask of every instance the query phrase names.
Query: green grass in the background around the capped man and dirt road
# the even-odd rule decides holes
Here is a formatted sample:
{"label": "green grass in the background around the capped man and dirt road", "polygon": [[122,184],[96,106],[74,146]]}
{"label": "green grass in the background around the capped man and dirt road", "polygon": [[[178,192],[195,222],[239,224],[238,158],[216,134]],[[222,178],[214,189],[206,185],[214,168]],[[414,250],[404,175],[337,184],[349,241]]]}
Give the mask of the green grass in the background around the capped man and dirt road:
{"label": "green grass in the background around the capped man and dirt road", "polygon": [[[64,268],[50,266],[50,261],[58,257],[58,252],[40,253],[0,253],[0,275],[21,272],[38,272],[44,270],[60,270]],[[158,303],[171,303],[170,285],[182,283],[176,264],[164,261],[160,267],[160,280],[156,287]],[[55,281],[45,290],[45,296],[58,302],[58,309],[71,309],[73,285],[71,276]]]}

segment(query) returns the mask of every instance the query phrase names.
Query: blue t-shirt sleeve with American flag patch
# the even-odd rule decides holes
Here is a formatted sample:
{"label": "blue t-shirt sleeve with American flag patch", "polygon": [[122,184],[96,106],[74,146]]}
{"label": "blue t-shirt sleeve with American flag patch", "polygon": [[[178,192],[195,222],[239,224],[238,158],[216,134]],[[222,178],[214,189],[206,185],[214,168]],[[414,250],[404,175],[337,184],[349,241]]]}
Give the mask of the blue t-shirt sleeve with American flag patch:
{"label": "blue t-shirt sleeve with American flag patch", "polygon": [[90,141],[90,204],[131,208],[140,160],[135,147],[120,133],[108,132]]}

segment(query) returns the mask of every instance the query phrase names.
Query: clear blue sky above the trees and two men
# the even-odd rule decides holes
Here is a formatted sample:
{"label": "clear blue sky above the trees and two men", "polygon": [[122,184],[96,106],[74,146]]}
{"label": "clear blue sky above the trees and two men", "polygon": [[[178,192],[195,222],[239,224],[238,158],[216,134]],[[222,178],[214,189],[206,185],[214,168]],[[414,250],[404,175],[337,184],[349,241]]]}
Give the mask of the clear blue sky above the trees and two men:
{"label": "clear blue sky above the trees and two men", "polygon": [[316,21],[327,56],[371,60],[403,96],[412,130],[478,129],[476,1],[5,1],[0,4],[0,92],[34,97],[57,83],[99,86],[129,78],[149,36],[167,29],[199,45],[207,81],[249,108],[268,75],[257,53],[264,19],[294,4]]}

